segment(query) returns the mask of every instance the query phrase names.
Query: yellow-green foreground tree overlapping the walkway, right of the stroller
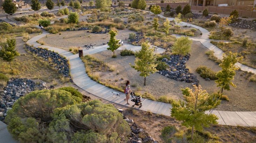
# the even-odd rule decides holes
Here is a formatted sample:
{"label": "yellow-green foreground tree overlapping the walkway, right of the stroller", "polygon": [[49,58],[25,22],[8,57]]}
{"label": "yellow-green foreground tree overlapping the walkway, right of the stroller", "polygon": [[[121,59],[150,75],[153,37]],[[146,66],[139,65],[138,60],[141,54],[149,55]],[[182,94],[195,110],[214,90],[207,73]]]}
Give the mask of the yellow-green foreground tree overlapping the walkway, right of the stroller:
{"label": "yellow-green foreground tree overlapping the walkway, right of the stroller", "polygon": [[220,104],[216,95],[209,95],[206,90],[201,89],[201,85],[194,86],[194,91],[186,87],[182,89],[182,94],[186,102],[174,101],[172,103],[171,116],[176,120],[183,121],[182,125],[192,127],[191,139],[193,140],[194,128],[202,131],[203,127],[209,127],[211,124],[217,124],[218,117],[214,114],[205,114],[212,108]]}

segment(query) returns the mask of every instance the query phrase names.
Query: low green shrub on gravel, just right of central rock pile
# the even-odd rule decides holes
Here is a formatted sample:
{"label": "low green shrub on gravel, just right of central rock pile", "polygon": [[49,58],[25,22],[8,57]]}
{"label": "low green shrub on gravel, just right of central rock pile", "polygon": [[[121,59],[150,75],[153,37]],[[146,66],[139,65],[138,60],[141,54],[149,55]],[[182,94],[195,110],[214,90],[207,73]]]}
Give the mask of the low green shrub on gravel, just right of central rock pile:
{"label": "low green shrub on gravel, just right of central rock pile", "polygon": [[201,77],[203,78],[210,78],[211,80],[216,80],[217,78],[215,77],[216,72],[212,71],[210,68],[206,66],[199,66],[196,68],[196,72],[200,74]]}

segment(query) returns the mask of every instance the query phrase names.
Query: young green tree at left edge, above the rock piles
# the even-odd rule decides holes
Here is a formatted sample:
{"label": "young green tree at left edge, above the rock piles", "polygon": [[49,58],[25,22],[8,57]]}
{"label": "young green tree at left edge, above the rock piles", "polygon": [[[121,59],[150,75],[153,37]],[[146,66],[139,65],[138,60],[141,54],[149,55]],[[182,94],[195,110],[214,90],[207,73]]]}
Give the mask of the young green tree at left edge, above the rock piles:
{"label": "young green tree at left edge, above the rock piles", "polygon": [[16,51],[16,39],[7,39],[7,41],[1,43],[0,46],[2,47],[2,49],[0,50],[0,57],[4,61],[9,62],[10,68],[11,70],[13,70],[11,62],[14,60],[16,56],[20,55]]}

